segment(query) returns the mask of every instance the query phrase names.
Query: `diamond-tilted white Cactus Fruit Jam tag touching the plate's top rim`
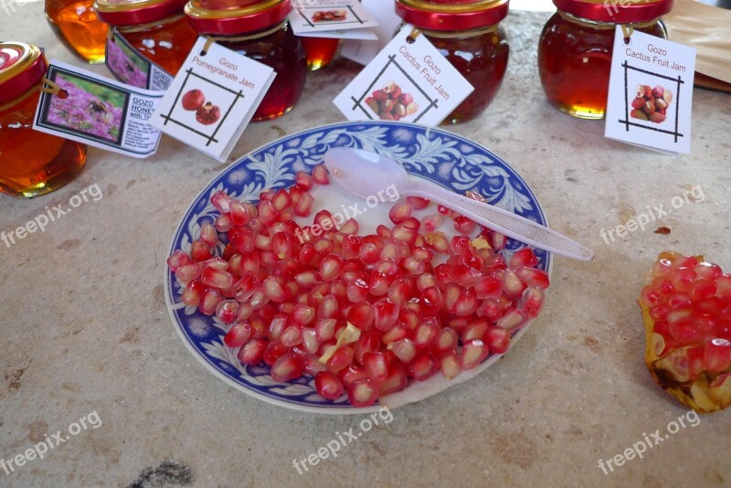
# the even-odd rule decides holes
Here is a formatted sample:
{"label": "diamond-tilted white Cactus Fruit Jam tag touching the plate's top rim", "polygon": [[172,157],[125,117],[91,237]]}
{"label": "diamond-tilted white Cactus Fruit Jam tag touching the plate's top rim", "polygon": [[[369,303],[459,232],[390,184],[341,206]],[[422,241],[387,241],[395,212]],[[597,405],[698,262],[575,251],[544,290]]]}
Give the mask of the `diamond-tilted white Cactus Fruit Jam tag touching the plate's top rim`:
{"label": "diamond-tilted white Cactus Fruit Jam tag touching the plate's top rim", "polygon": [[413,31],[404,27],[335,98],[348,120],[437,125],[474,90],[426,37],[411,37]]}

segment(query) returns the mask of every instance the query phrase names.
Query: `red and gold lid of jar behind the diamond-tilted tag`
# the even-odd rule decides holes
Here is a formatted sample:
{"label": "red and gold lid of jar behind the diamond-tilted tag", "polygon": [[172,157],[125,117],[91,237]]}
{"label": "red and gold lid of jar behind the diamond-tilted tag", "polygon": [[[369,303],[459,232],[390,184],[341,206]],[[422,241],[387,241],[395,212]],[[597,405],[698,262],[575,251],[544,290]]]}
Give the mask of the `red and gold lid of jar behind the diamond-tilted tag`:
{"label": "red and gold lid of jar behind the diamond-tilted tag", "polygon": [[460,31],[494,26],[508,15],[509,0],[396,0],[396,13],[409,24]]}

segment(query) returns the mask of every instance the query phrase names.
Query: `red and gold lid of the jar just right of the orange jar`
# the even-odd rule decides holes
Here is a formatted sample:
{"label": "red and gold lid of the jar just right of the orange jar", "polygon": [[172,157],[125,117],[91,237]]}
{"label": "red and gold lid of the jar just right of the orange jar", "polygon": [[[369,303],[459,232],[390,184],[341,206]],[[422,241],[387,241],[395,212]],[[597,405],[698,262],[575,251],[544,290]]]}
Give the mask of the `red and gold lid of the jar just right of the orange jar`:
{"label": "red and gold lid of the jar just right of the orange jar", "polygon": [[97,16],[111,26],[136,26],[183,13],[185,0],[96,0]]}

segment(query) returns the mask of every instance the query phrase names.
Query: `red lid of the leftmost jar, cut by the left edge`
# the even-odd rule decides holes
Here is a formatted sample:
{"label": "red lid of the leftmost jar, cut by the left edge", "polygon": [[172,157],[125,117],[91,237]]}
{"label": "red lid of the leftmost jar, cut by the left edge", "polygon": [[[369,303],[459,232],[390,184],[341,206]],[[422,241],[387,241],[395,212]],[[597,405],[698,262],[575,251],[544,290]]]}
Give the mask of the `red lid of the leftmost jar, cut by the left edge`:
{"label": "red lid of the leftmost jar, cut by the left edge", "polygon": [[16,100],[46,75],[41,50],[23,42],[0,42],[0,105]]}

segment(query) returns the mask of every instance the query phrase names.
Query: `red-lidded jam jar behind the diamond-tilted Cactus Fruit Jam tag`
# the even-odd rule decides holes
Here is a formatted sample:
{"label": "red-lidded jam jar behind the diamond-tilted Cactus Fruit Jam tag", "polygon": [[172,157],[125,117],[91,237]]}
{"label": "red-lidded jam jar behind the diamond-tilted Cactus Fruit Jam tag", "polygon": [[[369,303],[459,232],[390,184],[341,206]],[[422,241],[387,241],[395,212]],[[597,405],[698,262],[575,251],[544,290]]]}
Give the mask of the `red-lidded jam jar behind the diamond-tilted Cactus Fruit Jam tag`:
{"label": "red-lidded jam jar behind the diamond-tilted Cactus Fruit Jam tag", "polygon": [[508,66],[500,21],[508,0],[396,0],[396,13],[460,71],[474,91],[442,122],[471,121],[493,101]]}

